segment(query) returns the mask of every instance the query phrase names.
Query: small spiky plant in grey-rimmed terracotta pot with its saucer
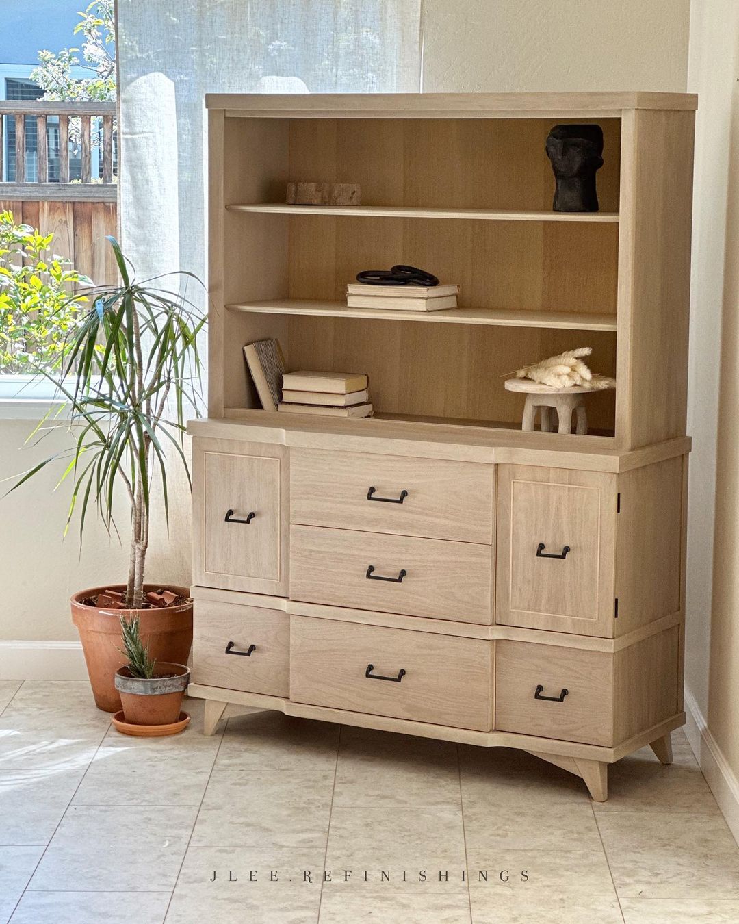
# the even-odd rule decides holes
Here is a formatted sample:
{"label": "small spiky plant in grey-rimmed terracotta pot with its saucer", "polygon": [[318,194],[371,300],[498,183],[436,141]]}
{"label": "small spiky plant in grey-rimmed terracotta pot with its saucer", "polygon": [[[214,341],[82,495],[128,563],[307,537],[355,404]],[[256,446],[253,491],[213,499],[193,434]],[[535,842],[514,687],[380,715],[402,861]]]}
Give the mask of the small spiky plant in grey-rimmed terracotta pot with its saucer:
{"label": "small spiky plant in grey-rimmed terracotta pot with its saucer", "polygon": [[[115,672],[115,689],[120,693],[126,721],[120,721],[119,713],[114,722],[124,734],[175,735],[189,721],[180,709],[190,672],[185,664],[154,661],[141,638],[139,622],[139,616],[120,617],[120,651],[127,663]],[[142,725],[146,727],[142,729]]]}

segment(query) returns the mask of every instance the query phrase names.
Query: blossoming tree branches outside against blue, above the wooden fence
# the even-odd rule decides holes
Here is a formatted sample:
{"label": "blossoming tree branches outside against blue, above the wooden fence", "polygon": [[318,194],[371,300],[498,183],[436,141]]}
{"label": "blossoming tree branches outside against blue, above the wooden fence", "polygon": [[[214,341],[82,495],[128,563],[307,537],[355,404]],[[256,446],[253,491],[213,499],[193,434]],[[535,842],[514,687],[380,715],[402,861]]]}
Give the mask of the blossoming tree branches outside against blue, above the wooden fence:
{"label": "blossoming tree branches outside against blue, above the wooden fence", "polygon": [[[115,100],[114,0],[95,0],[79,17],[75,34],[84,36],[81,49],[40,51],[39,66],[30,79],[42,87],[44,100]],[[91,76],[73,78],[72,67],[86,67]]]}

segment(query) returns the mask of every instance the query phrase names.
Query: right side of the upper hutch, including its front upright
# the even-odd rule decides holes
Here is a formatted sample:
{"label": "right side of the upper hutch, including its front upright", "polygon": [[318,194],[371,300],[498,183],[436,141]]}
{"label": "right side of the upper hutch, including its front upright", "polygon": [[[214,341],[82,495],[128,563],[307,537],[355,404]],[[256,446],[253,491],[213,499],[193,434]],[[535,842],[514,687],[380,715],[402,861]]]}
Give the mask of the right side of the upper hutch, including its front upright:
{"label": "right side of the upper hutch, including its front upright", "polygon": [[624,116],[616,427],[624,448],[685,432],[694,120]]}

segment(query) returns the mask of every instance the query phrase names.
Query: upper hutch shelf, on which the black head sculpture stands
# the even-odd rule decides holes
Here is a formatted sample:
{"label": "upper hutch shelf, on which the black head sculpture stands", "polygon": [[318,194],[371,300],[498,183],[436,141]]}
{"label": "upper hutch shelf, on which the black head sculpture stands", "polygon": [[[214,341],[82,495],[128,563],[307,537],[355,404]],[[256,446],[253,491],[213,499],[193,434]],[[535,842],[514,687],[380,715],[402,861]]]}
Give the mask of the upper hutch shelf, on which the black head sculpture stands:
{"label": "upper hutch shelf, on which the black head sculpture stands", "polygon": [[466,218],[492,222],[617,222],[617,212],[518,212],[515,209],[446,209],[410,205],[286,205],[253,202],[227,205],[230,212],[283,215],[352,215],[365,218]]}

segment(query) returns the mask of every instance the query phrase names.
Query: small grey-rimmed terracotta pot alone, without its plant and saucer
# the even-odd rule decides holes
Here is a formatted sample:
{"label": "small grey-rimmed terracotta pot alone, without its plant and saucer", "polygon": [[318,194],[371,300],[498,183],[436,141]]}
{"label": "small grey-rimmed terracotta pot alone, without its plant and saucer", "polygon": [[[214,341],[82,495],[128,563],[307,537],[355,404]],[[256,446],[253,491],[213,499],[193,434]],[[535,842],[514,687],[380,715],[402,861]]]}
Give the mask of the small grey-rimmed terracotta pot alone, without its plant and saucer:
{"label": "small grey-rimmed terracotta pot alone, without its plant and saucer", "polygon": [[153,677],[134,677],[127,666],[119,667],[115,689],[120,693],[126,721],[133,725],[175,723],[189,679],[185,664],[157,663]]}

